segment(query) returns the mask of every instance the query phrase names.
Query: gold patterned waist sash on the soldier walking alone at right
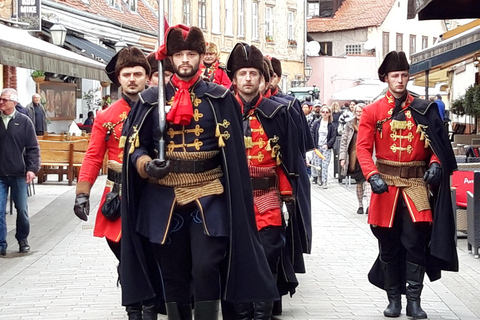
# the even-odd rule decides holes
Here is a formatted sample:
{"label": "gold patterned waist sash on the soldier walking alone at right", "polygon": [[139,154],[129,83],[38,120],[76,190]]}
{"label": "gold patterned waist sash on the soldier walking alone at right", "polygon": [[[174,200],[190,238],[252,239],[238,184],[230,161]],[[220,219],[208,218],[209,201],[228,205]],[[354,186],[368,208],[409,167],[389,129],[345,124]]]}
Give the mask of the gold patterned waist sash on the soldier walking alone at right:
{"label": "gold patterned waist sash on the soldier walking alone at right", "polygon": [[[377,163],[383,163],[390,166],[398,167],[420,167],[425,166],[425,161],[397,162],[384,159],[377,159]],[[430,210],[430,202],[428,201],[428,186],[423,178],[400,178],[380,173],[383,181],[389,186],[403,188],[403,191],[413,201],[417,211]]]}

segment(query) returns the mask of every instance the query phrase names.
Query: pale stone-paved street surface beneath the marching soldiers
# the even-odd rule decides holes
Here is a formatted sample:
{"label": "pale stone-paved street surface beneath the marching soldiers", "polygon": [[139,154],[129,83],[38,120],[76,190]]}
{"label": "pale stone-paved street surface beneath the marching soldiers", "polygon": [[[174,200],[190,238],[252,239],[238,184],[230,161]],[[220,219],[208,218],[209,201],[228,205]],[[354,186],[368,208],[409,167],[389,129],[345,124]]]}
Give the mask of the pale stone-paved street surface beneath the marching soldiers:
{"label": "pale stone-paved street surface beneath the marching soldiers", "polygon": [[[73,214],[74,186],[36,185],[36,195],[29,198],[32,252],[27,255],[16,253],[15,215],[7,216],[0,319],[127,319],[116,286],[116,259],[104,239],[92,236],[104,181],[101,176],[93,188],[88,222]],[[312,187],[312,204],[314,238],[307,273],[299,275],[296,294],[283,298],[279,319],[385,319],[385,293],[366,276],[377,247],[367,216],[356,214],[355,186],[331,178],[328,189]],[[425,282],[422,305],[429,319],[480,319],[480,261],[467,253],[465,239],[458,247],[460,272]],[[399,319],[407,319],[402,311]]]}

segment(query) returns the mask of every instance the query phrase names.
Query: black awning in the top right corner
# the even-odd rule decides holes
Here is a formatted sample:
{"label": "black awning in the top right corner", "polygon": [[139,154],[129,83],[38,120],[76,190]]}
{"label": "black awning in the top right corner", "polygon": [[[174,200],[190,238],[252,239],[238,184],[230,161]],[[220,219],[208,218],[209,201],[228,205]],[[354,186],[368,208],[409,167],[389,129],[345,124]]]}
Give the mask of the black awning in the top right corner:
{"label": "black awning in the top right corner", "polygon": [[408,0],[407,18],[445,20],[480,18],[478,0]]}

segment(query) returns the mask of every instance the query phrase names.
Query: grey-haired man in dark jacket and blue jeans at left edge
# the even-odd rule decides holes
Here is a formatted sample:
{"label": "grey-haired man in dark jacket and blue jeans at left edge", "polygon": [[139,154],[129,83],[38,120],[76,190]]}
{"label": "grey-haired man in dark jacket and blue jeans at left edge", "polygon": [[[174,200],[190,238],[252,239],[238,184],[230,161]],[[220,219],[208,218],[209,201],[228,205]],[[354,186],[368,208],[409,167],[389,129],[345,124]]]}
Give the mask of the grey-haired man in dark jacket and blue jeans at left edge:
{"label": "grey-haired man in dark jacket and blue jeans at left edge", "polygon": [[2,90],[0,96],[0,256],[7,254],[7,210],[8,188],[17,209],[15,238],[19,252],[30,251],[28,235],[27,185],[35,179],[40,169],[40,151],[32,121],[16,111],[17,91]]}

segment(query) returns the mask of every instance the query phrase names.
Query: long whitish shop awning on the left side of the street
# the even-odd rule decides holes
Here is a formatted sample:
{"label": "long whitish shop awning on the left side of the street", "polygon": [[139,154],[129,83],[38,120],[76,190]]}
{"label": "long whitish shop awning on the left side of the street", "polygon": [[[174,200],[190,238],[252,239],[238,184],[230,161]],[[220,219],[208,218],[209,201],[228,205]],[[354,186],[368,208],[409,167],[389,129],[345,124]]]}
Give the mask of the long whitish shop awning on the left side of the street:
{"label": "long whitish shop awning on the left side of the street", "polygon": [[0,64],[109,81],[105,65],[0,24]]}

